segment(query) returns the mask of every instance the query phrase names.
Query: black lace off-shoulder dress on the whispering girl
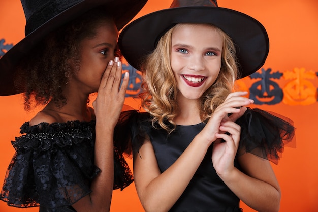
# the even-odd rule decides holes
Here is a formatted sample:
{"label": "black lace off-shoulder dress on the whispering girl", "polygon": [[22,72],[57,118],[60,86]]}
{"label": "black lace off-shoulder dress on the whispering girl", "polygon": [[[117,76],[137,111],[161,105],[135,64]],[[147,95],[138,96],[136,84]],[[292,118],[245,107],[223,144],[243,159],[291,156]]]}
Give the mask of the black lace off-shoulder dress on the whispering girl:
{"label": "black lace off-shoulder dress on the whispering girl", "polygon": [[[20,133],[22,136],[12,141],[16,153],[1,200],[15,207],[40,206],[40,211],[75,211],[71,205],[91,193],[90,183],[100,172],[94,165],[95,122],[31,127],[26,122]],[[133,177],[122,155],[127,143],[116,139],[120,137],[114,138],[113,189],[122,190]]]}

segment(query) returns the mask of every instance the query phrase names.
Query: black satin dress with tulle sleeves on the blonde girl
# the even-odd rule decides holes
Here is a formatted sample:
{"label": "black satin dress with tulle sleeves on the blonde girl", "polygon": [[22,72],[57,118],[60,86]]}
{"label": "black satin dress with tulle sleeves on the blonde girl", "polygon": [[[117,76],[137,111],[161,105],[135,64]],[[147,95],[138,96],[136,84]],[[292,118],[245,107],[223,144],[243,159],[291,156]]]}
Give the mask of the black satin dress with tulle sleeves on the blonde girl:
{"label": "black satin dress with tulle sleeves on the blonde girl", "polygon": [[[161,172],[168,169],[180,157],[205,126],[205,123],[191,126],[177,125],[176,129],[168,134],[163,129],[155,129],[148,114],[140,113],[136,116],[138,122],[132,128],[134,154],[138,154],[145,136],[149,136]],[[290,142],[294,136],[294,127],[290,120],[285,121],[259,109],[248,109],[237,123],[241,126],[238,152],[253,153],[274,163],[277,163],[284,144]],[[212,146],[170,212],[241,211],[239,198],[218,177],[211,156]],[[237,157],[238,155],[234,165],[240,169]]]}

